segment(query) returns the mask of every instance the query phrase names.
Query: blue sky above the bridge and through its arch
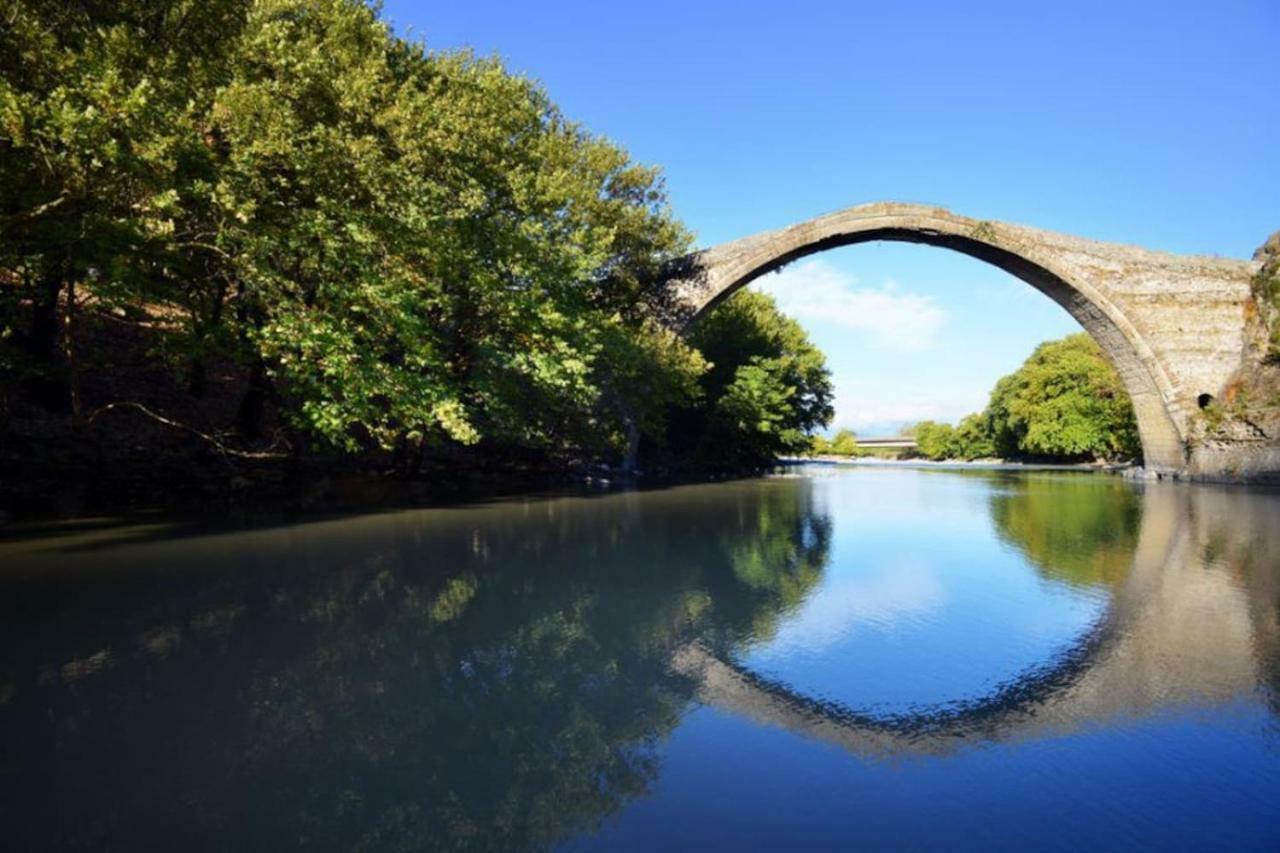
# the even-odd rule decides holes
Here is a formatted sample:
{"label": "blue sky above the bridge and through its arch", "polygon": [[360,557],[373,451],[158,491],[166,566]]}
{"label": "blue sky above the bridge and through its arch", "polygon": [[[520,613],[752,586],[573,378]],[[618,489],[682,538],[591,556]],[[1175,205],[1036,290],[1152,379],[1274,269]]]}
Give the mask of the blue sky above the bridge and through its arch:
{"label": "blue sky above the bridge and through its arch", "polygon": [[[1280,228],[1276,0],[384,14],[431,47],[500,55],[662,165],[700,245],[878,200],[1238,257]],[[827,351],[837,423],[861,434],[979,409],[1037,342],[1075,329],[1020,282],[919,246],[827,252],[762,287]]]}

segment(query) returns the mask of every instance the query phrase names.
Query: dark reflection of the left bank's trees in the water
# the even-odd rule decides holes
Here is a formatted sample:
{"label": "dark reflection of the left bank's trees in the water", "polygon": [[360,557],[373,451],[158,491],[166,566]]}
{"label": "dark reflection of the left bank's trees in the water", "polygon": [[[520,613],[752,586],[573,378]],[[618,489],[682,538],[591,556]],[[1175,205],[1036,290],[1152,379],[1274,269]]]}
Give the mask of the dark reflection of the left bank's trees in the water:
{"label": "dark reflection of the left bank's trees in the water", "polygon": [[18,847],[588,830],[655,777],[690,697],[671,651],[768,629],[822,571],[808,483],[717,489],[457,511],[333,551],[303,529],[289,565],[79,583],[77,601],[15,588],[0,817]]}

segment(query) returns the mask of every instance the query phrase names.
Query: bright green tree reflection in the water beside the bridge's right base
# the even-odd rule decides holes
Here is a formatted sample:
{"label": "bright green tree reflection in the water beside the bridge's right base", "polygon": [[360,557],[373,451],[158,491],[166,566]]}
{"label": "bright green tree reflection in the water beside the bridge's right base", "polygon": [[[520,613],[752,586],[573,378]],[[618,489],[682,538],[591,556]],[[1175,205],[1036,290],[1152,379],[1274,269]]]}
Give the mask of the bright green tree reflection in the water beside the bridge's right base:
{"label": "bright green tree reflection in the water beside the bridge's right base", "polygon": [[1046,576],[1115,588],[1133,564],[1142,498],[1116,478],[1005,476],[992,491],[991,517]]}

